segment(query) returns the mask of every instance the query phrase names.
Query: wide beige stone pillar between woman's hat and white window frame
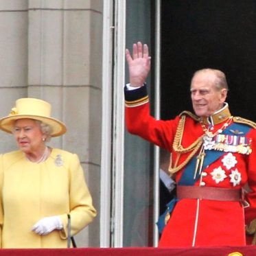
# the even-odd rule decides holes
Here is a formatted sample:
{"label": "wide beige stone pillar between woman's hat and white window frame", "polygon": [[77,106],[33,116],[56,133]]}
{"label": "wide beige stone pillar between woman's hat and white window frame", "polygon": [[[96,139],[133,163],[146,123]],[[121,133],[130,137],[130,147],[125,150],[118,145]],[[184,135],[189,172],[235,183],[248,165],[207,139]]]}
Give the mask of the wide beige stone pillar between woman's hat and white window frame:
{"label": "wide beige stone pillar between woman's hat and white window frame", "polygon": [[[30,0],[28,95],[47,100],[67,134],[51,146],[80,157],[100,209],[102,9],[100,0]],[[75,236],[78,246],[99,246],[100,218]]]}

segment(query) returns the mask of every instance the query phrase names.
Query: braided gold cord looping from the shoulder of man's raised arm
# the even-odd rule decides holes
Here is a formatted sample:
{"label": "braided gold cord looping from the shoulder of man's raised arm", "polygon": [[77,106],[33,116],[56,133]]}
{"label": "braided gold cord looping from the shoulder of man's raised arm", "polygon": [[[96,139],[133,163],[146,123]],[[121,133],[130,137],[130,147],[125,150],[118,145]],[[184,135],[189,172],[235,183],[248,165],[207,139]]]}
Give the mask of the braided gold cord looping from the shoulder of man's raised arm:
{"label": "braided gold cord looping from the shoulder of man's raised arm", "polygon": [[[187,148],[183,148],[183,146],[181,145],[181,140],[183,138],[183,132],[184,132],[184,126],[185,126],[185,119],[186,119],[186,116],[183,115],[181,117],[180,121],[178,122],[178,127],[177,127],[176,134],[175,134],[175,137],[174,137],[173,149],[174,149],[175,152],[178,153],[178,156],[177,156],[177,160],[176,160],[176,163],[175,163],[174,167],[169,167],[169,172],[171,174],[174,174],[175,172],[178,172],[185,165],[187,165],[187,163],[190,161],[190,159],[199,150],[200,146],[202,146],[202,137],[204,137],[204,135],[202,135],[201,137],[196,139],[196,141],[191,143],[191,145],[188,146]],[[191,153],[189,154],[189,156],[187,156],[187,159],[185,159],[185,161],[183,161],[183,163],[181,163],[181,165],[177,166],[178,159],[181,156],[181,154],[187,153],[189,151],[191,151]]]}

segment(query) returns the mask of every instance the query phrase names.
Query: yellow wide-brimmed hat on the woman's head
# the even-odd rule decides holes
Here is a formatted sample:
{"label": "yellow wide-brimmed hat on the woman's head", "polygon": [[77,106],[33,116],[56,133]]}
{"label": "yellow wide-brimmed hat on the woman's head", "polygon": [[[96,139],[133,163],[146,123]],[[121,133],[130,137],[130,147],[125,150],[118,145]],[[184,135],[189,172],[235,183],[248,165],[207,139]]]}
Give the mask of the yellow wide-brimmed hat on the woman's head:
{"label": "yellow wide-brimmed hat on the woman's head", "polygon": [[57,137],[66,132],[66,126],[61,121],[50,117],[51,104],[44,100],[30,97],[16,100],[16,106],[12,108],[7,117],[0,119],[0,129],[12,133],[14,121],[30,118],[48,124],[51,127],[51,137]]}

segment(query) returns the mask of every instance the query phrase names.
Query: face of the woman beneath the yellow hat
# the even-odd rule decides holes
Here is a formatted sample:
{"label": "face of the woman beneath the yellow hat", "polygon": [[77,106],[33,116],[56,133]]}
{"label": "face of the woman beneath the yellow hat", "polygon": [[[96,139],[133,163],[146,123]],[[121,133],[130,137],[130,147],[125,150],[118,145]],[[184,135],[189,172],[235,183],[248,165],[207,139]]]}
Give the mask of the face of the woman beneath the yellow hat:
{"label": "face of the woman beneath the yellow hat", "polygon": [[14,137],[19,149],[25,154],[30,154],[45,148],[40,124],[34,119],[18,119],[14,123]]}

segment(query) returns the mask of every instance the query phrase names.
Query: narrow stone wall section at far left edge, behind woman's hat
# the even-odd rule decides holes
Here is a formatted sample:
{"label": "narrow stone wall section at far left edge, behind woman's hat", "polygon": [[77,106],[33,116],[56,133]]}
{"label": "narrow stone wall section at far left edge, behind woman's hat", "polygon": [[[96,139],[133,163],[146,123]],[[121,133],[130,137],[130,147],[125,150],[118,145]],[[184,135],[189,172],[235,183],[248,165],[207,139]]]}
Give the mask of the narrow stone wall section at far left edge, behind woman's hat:
{"label": "narrow stone wall section at far left edge, behind woman's hat", "polygon": [[[0,1],[0,117],[27,95],[27,0]],[[16,149],[13,137],[0,131],[2,152]]]}

